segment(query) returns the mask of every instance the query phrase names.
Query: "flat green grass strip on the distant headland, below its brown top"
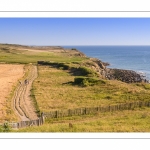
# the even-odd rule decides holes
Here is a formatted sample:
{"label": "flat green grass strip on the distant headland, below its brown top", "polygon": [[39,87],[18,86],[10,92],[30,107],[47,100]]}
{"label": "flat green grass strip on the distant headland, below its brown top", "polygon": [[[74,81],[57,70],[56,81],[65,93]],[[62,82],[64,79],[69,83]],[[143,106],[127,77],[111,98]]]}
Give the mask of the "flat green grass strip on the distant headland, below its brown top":
{"label": "flat green grass strip on the distant headland, below its brown top", "polygon": [[[18,50],[19,51],[19,50]],[[57,62],[80,62],[85,58],[70,56],[67,57],[65,53],[53,53],[53,52],[28,52],[28,51],[19,51],[15,52],[4,52],[0,50],[0,62],[5,63],[37,63],[39,60],[44,61],[57,61]],[[67,58],[67,59],[66,59]]]}

